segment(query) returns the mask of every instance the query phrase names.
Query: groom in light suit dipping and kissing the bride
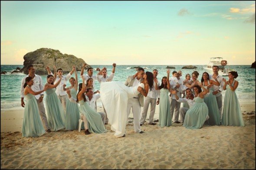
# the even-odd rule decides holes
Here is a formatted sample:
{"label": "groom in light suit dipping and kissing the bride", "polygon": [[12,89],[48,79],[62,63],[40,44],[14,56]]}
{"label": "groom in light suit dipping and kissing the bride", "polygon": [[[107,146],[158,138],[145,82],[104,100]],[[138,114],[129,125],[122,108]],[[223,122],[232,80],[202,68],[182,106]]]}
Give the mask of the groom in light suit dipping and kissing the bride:
{"label": "groom in light suit dipping and kissing the bride", "polygon": [[[125,80],[125,86],[128,86],[128,87],[138,86],[139,83],[142,82],[144,74],[145,74],[144,69],[139,67],[137,76],[136,77],[128,76],[128,78]],[[140,126],[141,107],[143,106],[144,106],[144,96],[141,93],[139,93],[138,96],[128,99],[127,121],[132,109],[133,119],[134,119],[134,131],[137,133],[144,133],[143,131],[141,131],[141,126]]]}

